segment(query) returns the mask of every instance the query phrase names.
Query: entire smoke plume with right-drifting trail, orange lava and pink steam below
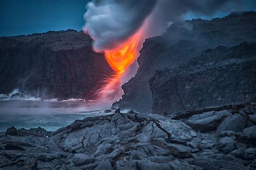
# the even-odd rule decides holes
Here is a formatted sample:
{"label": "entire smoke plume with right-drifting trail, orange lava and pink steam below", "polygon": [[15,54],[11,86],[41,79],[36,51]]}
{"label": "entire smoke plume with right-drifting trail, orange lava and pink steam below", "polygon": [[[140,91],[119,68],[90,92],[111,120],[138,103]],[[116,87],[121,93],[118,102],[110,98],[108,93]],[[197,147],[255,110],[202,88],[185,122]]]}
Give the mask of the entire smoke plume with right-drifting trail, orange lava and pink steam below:
{"label": "entire smoke plume with right-drifting trail, orange lava and pink steam below", "polygon": [[163,33],[188,12],[210,16],[217,10],[239,10],[235,7],[245,2],[255,3],[254,0],[94,0],[88,3],[83,30],[93,39],[93,49],[105,53],[115,72],[104,81],[93,102],[110,106],[121,98],[121,85],[136,73],[136,59],[146,38]]}

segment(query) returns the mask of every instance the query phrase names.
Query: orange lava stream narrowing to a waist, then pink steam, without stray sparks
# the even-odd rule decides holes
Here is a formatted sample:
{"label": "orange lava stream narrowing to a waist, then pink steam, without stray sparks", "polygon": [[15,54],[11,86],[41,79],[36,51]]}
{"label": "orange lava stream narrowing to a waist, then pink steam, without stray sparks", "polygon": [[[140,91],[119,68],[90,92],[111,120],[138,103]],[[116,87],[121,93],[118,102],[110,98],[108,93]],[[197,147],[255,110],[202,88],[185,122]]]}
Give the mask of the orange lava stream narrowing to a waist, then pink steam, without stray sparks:
{"label": "orange lava stream narrowing to a waist, then pink steam, without stray sparks", "polygon": [[105,85],[96,94],[96,98],[100,103],[112,104],[112,102],[119,100],[123,95],[120,78],[138,55],[139,32],[117,48],[105,51],[106,61],[114,70],[115,74],[105,80]]}

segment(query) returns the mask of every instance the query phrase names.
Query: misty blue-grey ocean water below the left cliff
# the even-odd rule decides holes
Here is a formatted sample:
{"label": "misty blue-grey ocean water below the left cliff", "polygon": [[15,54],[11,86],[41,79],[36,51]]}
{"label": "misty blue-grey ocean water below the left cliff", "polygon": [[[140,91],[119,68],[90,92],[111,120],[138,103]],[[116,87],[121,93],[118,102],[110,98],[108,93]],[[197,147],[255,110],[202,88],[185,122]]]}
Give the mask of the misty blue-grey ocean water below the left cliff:
{"label": "misty blue-grey ocean water below the left cliff", "polygon": [[104,110],[90,110],[79,101],[0,101],[0,132],[11,126],[17,129],[44,128],[55,131],[77,119],[105,115]]}

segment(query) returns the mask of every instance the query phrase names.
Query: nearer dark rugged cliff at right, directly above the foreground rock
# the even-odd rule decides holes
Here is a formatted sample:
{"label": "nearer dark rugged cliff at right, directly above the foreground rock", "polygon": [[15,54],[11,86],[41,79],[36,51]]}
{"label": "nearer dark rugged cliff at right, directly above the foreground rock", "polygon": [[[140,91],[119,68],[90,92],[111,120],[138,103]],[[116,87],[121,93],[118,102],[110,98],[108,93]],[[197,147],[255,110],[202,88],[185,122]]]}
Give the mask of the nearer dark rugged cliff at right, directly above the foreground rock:
{"label": "nearer dark rugged cliff at right, directly above the foreground rock", "polygon": [[256,43],[207,49],[176,69],[157,70],[150,81],[154,113],[255,102]]}

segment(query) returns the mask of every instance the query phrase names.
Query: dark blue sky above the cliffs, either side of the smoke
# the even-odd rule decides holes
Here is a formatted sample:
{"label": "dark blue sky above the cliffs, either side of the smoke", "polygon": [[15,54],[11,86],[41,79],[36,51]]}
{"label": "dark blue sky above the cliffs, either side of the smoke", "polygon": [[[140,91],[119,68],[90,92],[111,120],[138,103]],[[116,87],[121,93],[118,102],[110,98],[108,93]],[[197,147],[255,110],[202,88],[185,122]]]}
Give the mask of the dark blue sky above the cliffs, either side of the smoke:
{"label": "dark blue sky above the cliffs, either side of the smoke", "polygon": [[[0,0],[0,36],[82,30],[86,4],[87,0]],[[186,19],[223,17],[233,10],[217,12],[213,16],[188,13]],[[240,10],[255,10],[255,6],[245,5]]]}

